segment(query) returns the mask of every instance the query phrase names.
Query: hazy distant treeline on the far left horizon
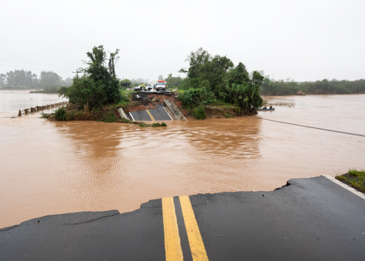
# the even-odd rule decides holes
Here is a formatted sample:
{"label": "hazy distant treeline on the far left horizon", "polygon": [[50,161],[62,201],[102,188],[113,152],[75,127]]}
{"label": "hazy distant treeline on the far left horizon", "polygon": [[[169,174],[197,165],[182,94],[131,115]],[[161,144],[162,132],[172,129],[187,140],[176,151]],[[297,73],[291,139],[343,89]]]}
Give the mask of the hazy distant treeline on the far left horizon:
{"label": "hazy distant treeline on the far left horizon", "polygon": [[24,88],[43,89],[45,87],[69,86],[72,84],[71,78],[62,79],[53,71],[41,71],[39,78],[30,70],[10,70],[0,74],[0,87],[2,88]]}

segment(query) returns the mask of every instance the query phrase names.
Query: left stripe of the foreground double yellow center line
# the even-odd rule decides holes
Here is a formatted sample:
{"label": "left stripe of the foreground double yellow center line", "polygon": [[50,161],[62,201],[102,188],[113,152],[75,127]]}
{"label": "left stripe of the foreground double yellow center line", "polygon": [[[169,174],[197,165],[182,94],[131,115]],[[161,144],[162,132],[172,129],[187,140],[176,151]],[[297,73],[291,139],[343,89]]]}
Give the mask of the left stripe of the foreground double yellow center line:
{"label": "left stripe of the foreground double yellow center line", "polygon": [[183,261],[175,205],[173,204],[172,197],[162,198],[162,215],[166,261]]}

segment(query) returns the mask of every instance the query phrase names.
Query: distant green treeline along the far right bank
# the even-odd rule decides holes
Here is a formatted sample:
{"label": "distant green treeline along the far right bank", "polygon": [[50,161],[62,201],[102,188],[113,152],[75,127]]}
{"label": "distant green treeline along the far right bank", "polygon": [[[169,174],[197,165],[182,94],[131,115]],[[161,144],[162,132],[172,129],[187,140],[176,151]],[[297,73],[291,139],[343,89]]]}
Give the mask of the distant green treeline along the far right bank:
{"label": "distant green treeline along the far right bank", "polygon": [[305,94],[351,94],[365,93],[365,79],[317,80],[297,82],[292,79],[270,80],[265,78],[260,87],[261,95],[293,95],[299,90]]}

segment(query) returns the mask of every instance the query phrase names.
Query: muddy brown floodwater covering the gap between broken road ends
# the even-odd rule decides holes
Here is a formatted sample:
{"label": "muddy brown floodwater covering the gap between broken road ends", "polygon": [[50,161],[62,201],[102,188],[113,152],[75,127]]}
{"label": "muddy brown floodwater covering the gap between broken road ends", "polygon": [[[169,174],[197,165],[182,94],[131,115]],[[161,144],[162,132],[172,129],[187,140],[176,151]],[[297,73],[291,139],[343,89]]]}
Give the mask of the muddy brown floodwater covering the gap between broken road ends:
{"label": "muddy brown floodwater covering the gap between broken road ends", "polygon": [[[264,99],[276,109],[257,117],[365,134],[365,94]],[[365,168],[364,137],[252,117],[141,128],[38,116],[0,118],[0,227],[49,214],[126,212],[165,196],[273,190],[290,178]]]}

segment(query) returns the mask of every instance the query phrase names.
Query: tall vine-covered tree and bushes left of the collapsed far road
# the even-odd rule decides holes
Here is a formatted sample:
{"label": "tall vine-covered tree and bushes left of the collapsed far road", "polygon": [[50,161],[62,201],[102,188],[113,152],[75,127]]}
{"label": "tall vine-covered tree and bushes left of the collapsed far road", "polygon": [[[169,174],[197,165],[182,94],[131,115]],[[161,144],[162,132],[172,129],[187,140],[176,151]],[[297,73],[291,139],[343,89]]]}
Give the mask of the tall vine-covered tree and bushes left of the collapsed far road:
{"label": "tall vine-covered tree and bushes left of the collapsed far road", "polygon": [[68,98],[66,107],[59,107],[54,113],[42,113],[41,117],[50,120],[96,120],[103,122],[122,122],[144,126],[166,126],[164,122],[145,124],[120,119],[117,109],[125,107],[131,100],[122,95],[119,79],[115,75],[115,62],[117,53],[109,52],[110,56],[106,64],[106,51],[103,45],[94,46],[91,52],[86,52],[87,65],[82,68],[83,75],[73,78],[70,86],[61,86],[58,89],[59,96]]}

